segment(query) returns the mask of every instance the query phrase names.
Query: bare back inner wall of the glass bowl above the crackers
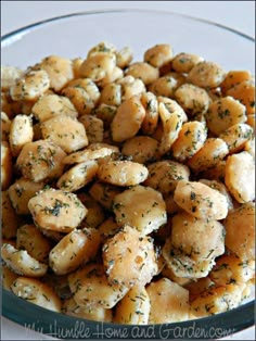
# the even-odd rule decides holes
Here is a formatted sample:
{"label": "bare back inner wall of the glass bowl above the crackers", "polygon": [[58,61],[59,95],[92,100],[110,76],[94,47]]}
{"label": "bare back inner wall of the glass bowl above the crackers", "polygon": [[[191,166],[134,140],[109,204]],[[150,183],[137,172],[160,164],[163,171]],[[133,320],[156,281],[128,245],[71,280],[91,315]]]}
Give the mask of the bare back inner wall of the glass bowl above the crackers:
{"label": "bare back inner wall of the glass bowl above the crackers", "polygon": [[46,55],[86,56],[100,41],[129,46],[135,60],[155,43],[170,43],[220,63],[226,70],[255,73],[254,40],[215,23],[168,12],[116,10],[64,15],[34,24],[2,39],[2,64],[26,67]]}

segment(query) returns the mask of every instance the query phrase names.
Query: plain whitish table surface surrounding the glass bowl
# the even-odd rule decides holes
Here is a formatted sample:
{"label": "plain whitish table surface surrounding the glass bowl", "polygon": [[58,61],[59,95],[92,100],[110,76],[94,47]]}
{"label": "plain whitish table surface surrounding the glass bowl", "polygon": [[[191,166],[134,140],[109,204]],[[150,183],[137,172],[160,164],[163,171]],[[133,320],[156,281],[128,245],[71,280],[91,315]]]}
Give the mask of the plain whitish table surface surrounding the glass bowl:
{"label": "plain whitish table surface surrounding the glass bowl", "polygon": [[[255,36],[255,1],[1,1],[1,35],[44,18],[100,9],[157,9],[209,20]],[[50,340],[1,318],[2,340]],[[255,327],[222,340],[254,340]]]}

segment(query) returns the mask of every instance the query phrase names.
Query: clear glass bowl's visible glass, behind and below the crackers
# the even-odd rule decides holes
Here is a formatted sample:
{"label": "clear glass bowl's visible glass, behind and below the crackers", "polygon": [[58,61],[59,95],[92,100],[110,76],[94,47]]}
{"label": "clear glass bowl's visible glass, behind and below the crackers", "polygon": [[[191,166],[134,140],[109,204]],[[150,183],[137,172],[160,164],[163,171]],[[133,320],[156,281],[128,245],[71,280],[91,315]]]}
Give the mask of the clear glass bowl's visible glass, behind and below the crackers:
{"label": "clear glass bowl's visible glass, behind and below the crackers", "polygon": [[[46,20],[1,38],[1,63],[26,68],[50,54],[86,58],[100,41],[129,46],[133,61],[156,43],[191,52],[225,70],[255,73],[255,40],[222,25],[170,12],[112,10]],[[3,289],[2,314],[29,330],[60,339],[219,339],[254,325],[254,301],[218,315],[175,324],[127,326],[57,314]]]}

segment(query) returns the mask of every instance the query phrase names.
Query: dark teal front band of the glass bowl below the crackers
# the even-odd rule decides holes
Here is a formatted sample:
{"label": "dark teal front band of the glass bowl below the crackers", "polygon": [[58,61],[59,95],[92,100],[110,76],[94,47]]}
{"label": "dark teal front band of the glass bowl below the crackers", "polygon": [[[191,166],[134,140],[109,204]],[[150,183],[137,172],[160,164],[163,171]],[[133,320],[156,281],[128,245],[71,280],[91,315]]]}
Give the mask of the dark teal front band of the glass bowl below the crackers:
{"label": "dark teal front band of the glass bowl below the crackers", "polygon": [[[15,306],[15,313],[13,312]],[[16,296],[3,289],[2,315],[25,327],[27,331],[38,331],[54,338],[87,339],[219,339],[252,327],[255,323],[255,302],[238,306],[231,311],[171,324],[123,325],[94,321],[49,311]],[[241,318],[242,314],[242,318]],[[136,337],[136,338],[135,338]],[[73,340],[73,339],[72,339]]]}

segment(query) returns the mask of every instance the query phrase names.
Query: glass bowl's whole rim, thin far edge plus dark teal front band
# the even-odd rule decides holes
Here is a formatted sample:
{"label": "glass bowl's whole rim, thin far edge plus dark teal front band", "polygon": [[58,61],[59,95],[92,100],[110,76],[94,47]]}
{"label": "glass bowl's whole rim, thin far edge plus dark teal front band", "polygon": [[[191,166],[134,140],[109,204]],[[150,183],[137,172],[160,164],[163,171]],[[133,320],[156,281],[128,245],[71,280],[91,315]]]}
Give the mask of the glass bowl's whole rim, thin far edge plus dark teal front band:
{"label": "glass bowl's whole rim, thin far edge plus dark teal front band", "polygon": [[[15,30],[12,30],[3,36],[1,36],[1,49],[8,46],[9,43],[15,42],[15,37],[18,39],[21,34],[29,34],[31,30],[48,25],[52,22],[68,20],[73,17],[86,16],[86,15],[97,15],[97,14],[113,14],[113,13],[149,13],[149,14],[165,14],[165,15],[172,15],[177,17],[181,17],[184,20],[190,20],[194,22],[200,22],[209,26],[216,26],[218,28],[222,28],[227,31],[230,31],[234,35],[239,35],[242,38],[245,38],[252,42],[255,42],[255,38],[251,37],[247,34],[244,34],[240,30],[231,28],[229,26],[216,23],[214,21],[204,20],[201,17],[195,17],[192,15],[172,12],[172,11],[163,11],[163,10],[145,10],[145,9],[106,9],[106,10],[98,10],[98,11],[79,11],[63,15],[53,16],[50,18],[46,18]],[[11,41],[10,41],[11,40]],[[16,311],[13,312],[12,307],[15,306]],[[137,334],[139,334],[139,339],[167,339],[166,336],[168,333],[168,339],[208,339],[210,330],[219,329],[219,332],[228,331],[229,334],[241,331],[242,329],[252,327],[255,324],[255,301],[251,301],[245,303],[236,308],[231,311],[212,315],[208,317],[203,317],[199,319],[185,320],[182,323],[172,323],[172,324],[164,324],[164,325],[117,325],[112,323],[99,323],[93,320],[88,320],[84,318],[77,318],[60,313],[55,313],[43,308],[41,306],[35,305],[28,301],[25,301],[14,293],[10,292],[9,290],[2,288],[2,315],[12,320],[17,323],[18,325],[27,328],[28,326],[31,327],[35,331],[40,331],[44,334],[51,334],[53,337],[59,337],[57,332],[62,332],[62,339],[69,339],[68,330],[76,328],[76,324],[86,324],[90,327],[90,337],[89,339],[104,339],[104,337],[110,339],[108,337],[108,329],[121,330],[126,328],[127,333],[123,334],[121,339],[135,339],[135,334],[132,334],[132,328],[139,328]],[[17,314],[20,313],[20,314]],[[243,314],[243,319],[241,319],[241,314]],[[42,316],[46,315],[43,318]],[[51,323],[54,323],[54,326]],[[227,326],[228,324],[228,326]],[[163,327],[164,326],[164,327]],[[55,336],[52,334],[54,327]],[[146,338],[146,330],[153,330],[154,334]],[[164,329],[165,328],[165,329]],[[176,334],[175,328],[181,328],[179,330],[183,330],[178,337]],[[193,333],[189,333],[190,330],[200,330],[197,332],[197,337]],[[29,329],[29,328],[28,328]],[[101,332],[99,331],[101,330]],[[161,333],[165,330],[165,334]],[[76,330],[75,330],[76,331]],[[203,333],[203,337],[202,337]],[[98,336],[98,338],[97,338]],[[226,334],[228,336],[228,334]],[[112,339],[118,339],[120,334],[116,332]],[[215,334],[210,337],[210,339],[219,338],[219,334]],[[78,333],[79,340],[85,339],[84,336]]]}

